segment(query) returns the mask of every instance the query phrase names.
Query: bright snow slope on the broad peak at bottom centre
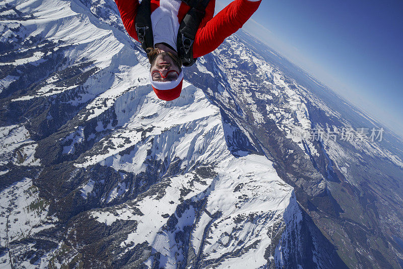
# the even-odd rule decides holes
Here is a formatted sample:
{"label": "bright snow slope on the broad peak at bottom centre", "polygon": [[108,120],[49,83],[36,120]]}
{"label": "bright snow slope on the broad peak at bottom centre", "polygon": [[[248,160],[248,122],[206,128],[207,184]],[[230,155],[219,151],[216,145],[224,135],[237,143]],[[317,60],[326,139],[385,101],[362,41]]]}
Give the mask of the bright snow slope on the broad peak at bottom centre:
{"label": "bright snow slope on the broad peak at bottom centre", "polygon": [[[209,259],[219,258],[222,253],[232,253],[240,246],[258,241],[256,249],[249,250],[242,257],[228,259],[222,266],[262,266],[267,262],[263,254],[271,243],[267,229],[277,215],[282,216],[292,188],[279,178],[270,160],[260,155],[233,158],[217,171],[220,180],[216,181],[209,195],[206,209],[212,214],[220,210],[222,217],[214,222],[217,227],[209,235],[211,244],[206,245],[203,252]],[[236,190],[237,186],[241,187]],[[247,218],[251,214],[254,215],[252,221]],[[236,224],[235,220],[240,216],[242,221]],[[224,233],[237,236],[239,241],[232,240],[226,246],[220,242]],[[247,243],[240,243],[240,240]]]}

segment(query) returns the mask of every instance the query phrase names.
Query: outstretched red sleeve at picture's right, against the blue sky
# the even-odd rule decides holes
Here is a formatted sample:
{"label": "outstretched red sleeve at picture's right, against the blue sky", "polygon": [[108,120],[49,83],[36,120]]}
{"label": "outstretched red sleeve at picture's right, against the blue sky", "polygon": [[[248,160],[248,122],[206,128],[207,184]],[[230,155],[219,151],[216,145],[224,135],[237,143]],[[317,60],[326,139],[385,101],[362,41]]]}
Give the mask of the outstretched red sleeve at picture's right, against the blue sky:
{"label": "outstretched red sleeve at picture's right, against the blue sky", "polygon": [[[215,50],[224,39],[242,28],[260,5],[260,1],[235,0],[196,32],[193,57],[201,57]],[[203,25],[203,23],[201,24]]]}

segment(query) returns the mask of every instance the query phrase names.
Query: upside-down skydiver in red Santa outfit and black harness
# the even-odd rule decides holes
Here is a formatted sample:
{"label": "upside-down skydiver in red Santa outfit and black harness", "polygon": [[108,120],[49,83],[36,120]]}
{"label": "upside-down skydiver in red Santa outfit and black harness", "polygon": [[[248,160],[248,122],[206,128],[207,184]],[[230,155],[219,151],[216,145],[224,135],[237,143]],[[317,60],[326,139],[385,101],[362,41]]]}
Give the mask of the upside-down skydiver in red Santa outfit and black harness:
{"label": "upside-down skydiver in red Santa outfit and black harness", "polygon": [[115,2],[128,34],[142,42],[147,52],[154,92],[170,101],[182,90],[182,65],[190,66],[196,58],[215,50],[242,27],[261,0],[235,0],[216,16],[215,0]]}

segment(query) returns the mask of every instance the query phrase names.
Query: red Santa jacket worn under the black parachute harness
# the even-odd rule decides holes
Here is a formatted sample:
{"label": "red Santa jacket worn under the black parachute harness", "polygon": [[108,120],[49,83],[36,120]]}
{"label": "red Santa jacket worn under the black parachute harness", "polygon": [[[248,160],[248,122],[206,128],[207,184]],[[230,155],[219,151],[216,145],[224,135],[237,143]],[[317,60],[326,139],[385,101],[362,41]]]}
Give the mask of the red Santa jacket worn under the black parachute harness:
{"label": "red Santa jacket worn under the black parachute harness", "polygon": [[[136,32],[136,15],[139,0],[115,0],[123,25],[128,34],[139,41]],[[252,16],[260,1],[235,0],[214,16],[215,0],[210,0],[206,15],[197,29],[193,43],[193,57],[201,57],[216,49],[225,38],[235,33]],[[159,7],[159,0],[151,0],[151,12]],[[177,17],[180,23],[190,7],[181,3]],[[213,17],[214,16],[214,17]]]}

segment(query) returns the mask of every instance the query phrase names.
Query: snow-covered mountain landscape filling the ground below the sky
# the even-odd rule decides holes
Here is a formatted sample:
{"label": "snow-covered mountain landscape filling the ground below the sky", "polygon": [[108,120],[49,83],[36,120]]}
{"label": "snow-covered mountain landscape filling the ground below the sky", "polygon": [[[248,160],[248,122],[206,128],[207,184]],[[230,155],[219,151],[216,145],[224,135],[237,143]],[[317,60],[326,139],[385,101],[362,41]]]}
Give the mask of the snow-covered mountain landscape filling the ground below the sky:
{"label": "snow-covered mountain landscape filling the ground below the sky", "polygon": [[401,139],[253,37],[165,102],[111,0],[0,20],[0,267],[403,266]]}

